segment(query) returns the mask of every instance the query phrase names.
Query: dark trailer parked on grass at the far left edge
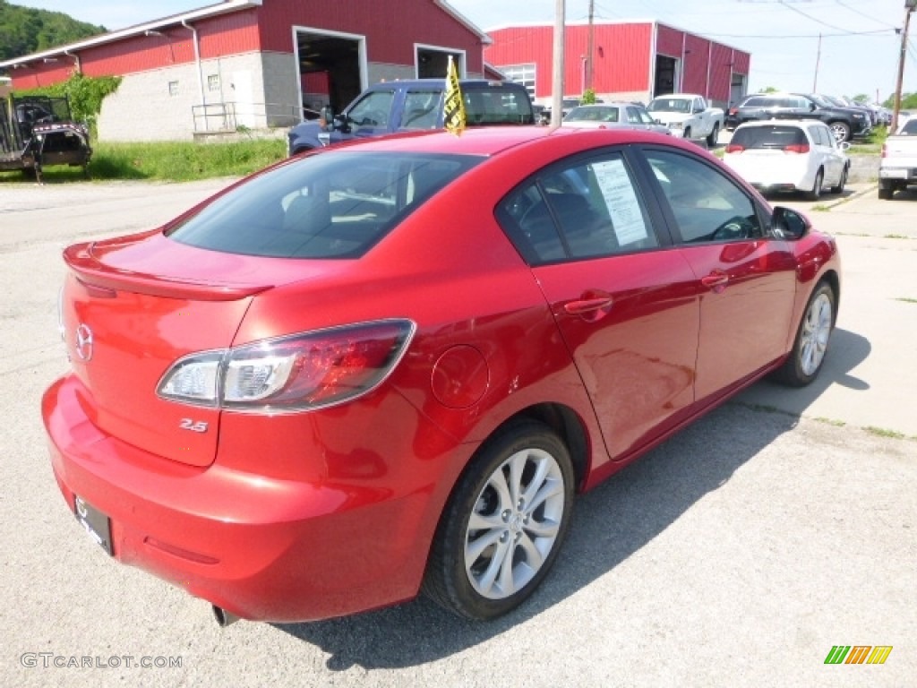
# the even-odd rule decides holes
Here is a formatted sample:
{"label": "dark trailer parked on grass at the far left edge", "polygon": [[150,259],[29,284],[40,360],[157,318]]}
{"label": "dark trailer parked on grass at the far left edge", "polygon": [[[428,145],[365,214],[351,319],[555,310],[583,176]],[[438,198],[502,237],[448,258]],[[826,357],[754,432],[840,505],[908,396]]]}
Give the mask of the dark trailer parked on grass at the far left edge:
{"label": "dark trailer parked on grass at the far left edge", "polygon": [[42,183],[50,165],[82,167],[88,174],[92,155],[89,130],[72,120],[66,97],[17,97],[0,82],[0,171],[21,170]]}

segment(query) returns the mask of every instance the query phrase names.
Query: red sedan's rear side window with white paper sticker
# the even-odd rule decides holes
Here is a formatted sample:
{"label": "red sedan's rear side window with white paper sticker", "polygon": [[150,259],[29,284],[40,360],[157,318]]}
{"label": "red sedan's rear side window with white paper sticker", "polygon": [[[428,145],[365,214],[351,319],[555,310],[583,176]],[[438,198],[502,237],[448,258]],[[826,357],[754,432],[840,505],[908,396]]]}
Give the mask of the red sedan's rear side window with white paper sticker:
{"label": "red sedan's rear side window with white paper sticker", "polygon": [[617,153],[539,174],[510,194],[497,215],[532,265],[658,246],[634,178]]}

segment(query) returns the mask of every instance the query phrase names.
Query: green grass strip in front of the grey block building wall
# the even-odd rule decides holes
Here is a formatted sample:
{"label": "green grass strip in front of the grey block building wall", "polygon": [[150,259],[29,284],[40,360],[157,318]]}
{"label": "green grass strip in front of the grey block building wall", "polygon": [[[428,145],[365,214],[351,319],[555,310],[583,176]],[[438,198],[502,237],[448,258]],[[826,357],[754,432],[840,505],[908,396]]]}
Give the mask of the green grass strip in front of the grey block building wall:
{"label": "green grass strip in front of the grey block building wall", "polygon": [[[282,139],[227,143],[97,143],[89,163],[89,173],[95,180],[192,182],[250,174],[285,156],[286,142]],[[75,182],[83,180],[83,171],[80,168],[47,167],[44,176],[49,182]],[[34,180],[21,172],[3,172],[0,173],[0,182],[34,183]]]}

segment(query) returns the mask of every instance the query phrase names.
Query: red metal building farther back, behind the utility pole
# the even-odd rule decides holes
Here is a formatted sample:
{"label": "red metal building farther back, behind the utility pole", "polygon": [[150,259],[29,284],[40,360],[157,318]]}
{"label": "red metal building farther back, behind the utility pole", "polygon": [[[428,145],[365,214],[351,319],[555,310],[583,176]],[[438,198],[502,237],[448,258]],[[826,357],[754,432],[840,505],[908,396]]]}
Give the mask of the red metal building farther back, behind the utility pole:
{"label": "red metal building farther back, behind the utility pole", "polygon": [[[549,104],[553,25],[495,28],[488,34],[493,42],[484,59],[525,83],[536,101]],[[603,100],[647,102],[682,92],[725,107],[746,93],[750,53],[657,21],[571,22],[564,43],[564,95],[579,96],[591,87]]]}

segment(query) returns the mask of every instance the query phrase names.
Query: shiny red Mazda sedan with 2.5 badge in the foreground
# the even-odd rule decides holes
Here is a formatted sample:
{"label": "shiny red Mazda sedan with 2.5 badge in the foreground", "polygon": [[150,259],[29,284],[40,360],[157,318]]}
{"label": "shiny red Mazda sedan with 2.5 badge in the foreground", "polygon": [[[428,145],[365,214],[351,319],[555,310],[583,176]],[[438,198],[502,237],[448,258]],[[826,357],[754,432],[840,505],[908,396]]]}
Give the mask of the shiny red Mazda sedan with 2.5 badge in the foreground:
{"label": "shiny red Mazda sedan with 2.5 badge in the foreground", "polygon": [[63,258],[61,492],[223,623],[513,609],[575,494],[765,374],[811,382],[841,283],[803,216],[612,129],[322,150]]}

